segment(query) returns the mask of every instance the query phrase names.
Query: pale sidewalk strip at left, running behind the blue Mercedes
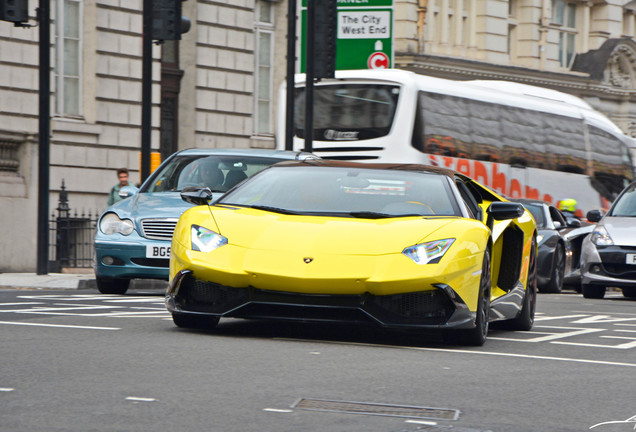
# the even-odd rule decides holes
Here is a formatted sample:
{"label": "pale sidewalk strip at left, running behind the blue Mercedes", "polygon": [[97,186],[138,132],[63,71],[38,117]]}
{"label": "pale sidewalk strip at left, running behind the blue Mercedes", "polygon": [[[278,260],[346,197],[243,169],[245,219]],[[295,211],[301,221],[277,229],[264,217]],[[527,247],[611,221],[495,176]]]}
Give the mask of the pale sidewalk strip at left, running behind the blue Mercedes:
{"label": "pale sidewalk strip at left, running behind the blue Mercedes", "polygon": [[[165,289],[167,281],[134,279],[131,289]],[[0,289],[41,289],[97,291],[95,273],[92,269],[78,269],[77,272],[49,273],[0,273]]]}

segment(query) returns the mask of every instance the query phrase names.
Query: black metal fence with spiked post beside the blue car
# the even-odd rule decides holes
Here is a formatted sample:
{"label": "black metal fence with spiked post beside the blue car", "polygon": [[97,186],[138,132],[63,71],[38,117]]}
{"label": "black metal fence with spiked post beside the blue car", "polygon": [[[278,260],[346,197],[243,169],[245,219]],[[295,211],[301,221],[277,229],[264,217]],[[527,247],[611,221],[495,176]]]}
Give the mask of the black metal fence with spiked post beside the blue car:
{"label": "black metal fence with spiked post beside the blue car", "polygon": [[62,181],[57,215],[49,219],[49,271],[63,268],[93,267],[95,231],[100,212],[78,214],[68,206],[68,194]]}

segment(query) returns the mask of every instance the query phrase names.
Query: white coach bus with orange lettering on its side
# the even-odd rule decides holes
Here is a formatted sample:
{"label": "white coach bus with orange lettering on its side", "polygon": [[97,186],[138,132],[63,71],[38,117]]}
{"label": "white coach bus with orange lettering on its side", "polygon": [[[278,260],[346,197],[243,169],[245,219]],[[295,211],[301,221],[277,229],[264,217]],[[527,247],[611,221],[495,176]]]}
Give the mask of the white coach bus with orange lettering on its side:
{"label": "white coach bus with orange lettering on its side", "polygon": [[[304,84],[297,75],[294,150],[304,148]],[[313,124],[322,158],[444,166],[510,198],[575,198],[583,214],[608,207],[633,177],[630,138],[614,123],[580,98],[525,84],[338,71],[315,84]]]}

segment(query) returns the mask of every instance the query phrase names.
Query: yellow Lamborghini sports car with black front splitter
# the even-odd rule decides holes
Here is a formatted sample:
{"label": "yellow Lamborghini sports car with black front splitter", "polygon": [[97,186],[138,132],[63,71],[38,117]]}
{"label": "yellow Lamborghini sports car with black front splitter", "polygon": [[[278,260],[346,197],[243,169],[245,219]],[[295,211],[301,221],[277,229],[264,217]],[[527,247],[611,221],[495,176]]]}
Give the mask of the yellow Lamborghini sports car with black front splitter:
{"label": "yellow Lamborghini sports car with black front splitter", "polygon": [[[425,165],[282,162],[177,223],[166,305],[177,326],[221,317],[449,330],[529,330],[536,228],[521,204]],[[450,332],[452,330],[452,332]]]}

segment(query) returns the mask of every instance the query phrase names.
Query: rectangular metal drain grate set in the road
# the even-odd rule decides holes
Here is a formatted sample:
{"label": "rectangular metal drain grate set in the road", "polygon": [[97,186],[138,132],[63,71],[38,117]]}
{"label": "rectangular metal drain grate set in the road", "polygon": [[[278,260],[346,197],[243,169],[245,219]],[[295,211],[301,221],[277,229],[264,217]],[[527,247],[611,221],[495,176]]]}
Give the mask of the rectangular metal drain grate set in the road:
{"label": "rectangular metal drain grate set in the road", "polygon": [[408,417],[428,420],[457,420],[459,410],[408,405],[389,405],[366,402],[299,399],[292,408],[309,411],[329,411],[349,414],[368,414],[388,417]]}

